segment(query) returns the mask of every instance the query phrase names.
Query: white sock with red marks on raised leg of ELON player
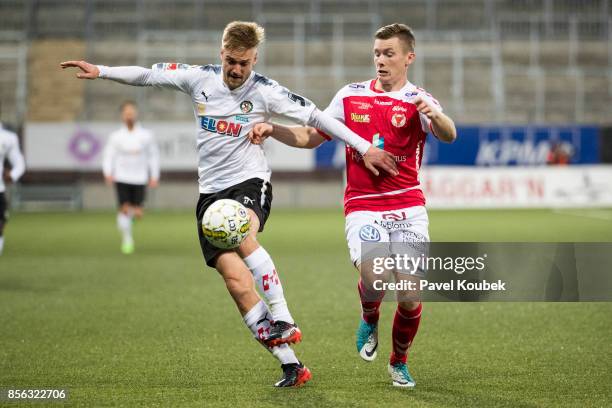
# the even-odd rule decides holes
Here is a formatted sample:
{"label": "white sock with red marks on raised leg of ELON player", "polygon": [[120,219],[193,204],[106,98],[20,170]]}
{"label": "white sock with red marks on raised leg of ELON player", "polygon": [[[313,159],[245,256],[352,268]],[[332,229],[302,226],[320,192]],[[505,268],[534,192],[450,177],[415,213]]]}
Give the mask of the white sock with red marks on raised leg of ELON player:
{"label": "white sock with red marks on raised leg of ELON player", "polygon": [[293,317],[289,313],[283,293],[283,284],[276,273],[270,254],[263,247],[259,247],[251,255],[244,258],[244,263],[251,270],[257,288],[268,301],[272,319],[293,324]]}

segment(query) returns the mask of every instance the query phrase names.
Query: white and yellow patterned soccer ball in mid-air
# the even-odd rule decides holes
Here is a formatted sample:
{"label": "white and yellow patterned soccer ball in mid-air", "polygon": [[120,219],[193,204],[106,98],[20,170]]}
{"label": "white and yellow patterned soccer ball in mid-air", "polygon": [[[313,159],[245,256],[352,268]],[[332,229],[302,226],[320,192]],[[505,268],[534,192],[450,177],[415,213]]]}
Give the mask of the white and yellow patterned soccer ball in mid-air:
{"label": "white and yellow patterned soccer ball in mid-air", "polygon": [[251,222],[245,206],[238,201],[217,200],[202,217],[202,232],[206,240],[221,249],[238,247],[249,235]]}

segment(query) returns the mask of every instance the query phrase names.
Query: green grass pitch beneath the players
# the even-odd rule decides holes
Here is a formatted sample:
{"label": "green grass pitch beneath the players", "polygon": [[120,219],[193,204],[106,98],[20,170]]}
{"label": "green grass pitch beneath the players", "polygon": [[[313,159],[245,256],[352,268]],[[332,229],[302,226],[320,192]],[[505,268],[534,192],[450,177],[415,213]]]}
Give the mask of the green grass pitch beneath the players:
{"label": "green grass pitch beneath the players", "polygon": [[[432,211],[430,233],[612,241],[612,211]],[[68,404],[87,407],[612,403],[612,303],[425,304],[409,361],[417,388],[391,387],[391,304],[379,358],[365,363],[354,349],[357,275],[340,210],[275,210],[261,235],[314,375],[275,389],[279,366],[204,266],[192,212],[150,212],[135,237],[123,256],[110,212],[13,214],[0,258],[0,388],[67,387]]]}

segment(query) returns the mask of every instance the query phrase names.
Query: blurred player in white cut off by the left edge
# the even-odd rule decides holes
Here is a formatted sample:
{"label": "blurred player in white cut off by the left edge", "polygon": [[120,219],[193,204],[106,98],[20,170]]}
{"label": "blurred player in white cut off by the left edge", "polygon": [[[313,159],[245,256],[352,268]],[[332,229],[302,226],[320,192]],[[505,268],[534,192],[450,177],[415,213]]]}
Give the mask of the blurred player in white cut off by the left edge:
{"label": "blurred player in white cut off by the left edge", "polygon": [[8,179],[15,183],[25,172],[25,160],[19,150],[19,139],[17,135],[5,129],[0,123],[0,255],[4,250],[4,226],[8,221],[8,210],[4,193],[4,161],[8,159],[11,163],[11,171]]}

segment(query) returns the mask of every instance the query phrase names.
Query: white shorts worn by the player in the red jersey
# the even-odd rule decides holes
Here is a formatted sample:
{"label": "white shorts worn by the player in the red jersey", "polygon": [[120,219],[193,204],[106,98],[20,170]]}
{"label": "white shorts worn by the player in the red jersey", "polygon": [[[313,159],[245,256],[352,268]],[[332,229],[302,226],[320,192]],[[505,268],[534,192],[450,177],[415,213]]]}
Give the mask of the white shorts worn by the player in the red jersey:
{"label": "white shorts worn by the player in the red jersey", "polygon": [[352,212],[346,216],[346,241],[351,261],[359,267],[363,243],[429,242],[428,227],[429,218],[423,206]]}

